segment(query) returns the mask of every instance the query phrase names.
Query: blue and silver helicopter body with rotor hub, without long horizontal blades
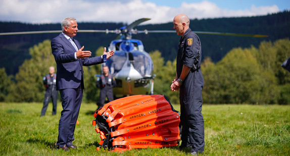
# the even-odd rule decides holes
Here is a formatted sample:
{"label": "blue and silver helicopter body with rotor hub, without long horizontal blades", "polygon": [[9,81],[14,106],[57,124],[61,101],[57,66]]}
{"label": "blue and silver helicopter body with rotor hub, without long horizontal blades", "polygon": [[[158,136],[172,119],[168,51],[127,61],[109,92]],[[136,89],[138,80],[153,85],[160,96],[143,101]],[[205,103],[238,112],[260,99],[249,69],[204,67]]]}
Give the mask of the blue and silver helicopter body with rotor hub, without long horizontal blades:
{"label": "blue and silver helicopter body with rotor hub, without long horizontal blades", "polygon": [[[102,64],[102,66],[109,67],[111,75],[116,80],[116,87],[113,88],[114,97],[153,94],[154,77],[156,76],[152,74],[153,61],[150,55],[144,51],[142,41],[132,39],[132,34],[137,33],[132,28],[148,20],[150,19],[142,18],[119,30],[110,31],[122,35],[120,39],[111,41],[109,45],[109,50],[115,51],[114,57]],[[99,76],[96,75],[98,78]]]}

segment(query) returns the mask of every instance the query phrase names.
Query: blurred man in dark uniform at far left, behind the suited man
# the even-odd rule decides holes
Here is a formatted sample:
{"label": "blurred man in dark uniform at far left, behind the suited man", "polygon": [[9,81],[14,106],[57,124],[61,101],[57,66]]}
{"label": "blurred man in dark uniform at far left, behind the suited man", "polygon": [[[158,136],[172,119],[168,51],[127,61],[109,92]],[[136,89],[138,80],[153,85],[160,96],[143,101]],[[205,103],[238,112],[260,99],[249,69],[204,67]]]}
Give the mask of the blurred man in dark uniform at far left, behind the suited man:
{"label": "blurred man in dark uniform at far left, behind the suited man", "polygon": [[51,98],[53,100],[53,115],[57,114],[58,91],[57,91],[56,83],[57,83],[57,74],[55,74],[55,67],[50,67],[50,74],[47,74],[43,77],[45,95],[44,95],[43,107],[42,107],[40,116],[45,115],[47,106],[49,106],[49,102]]}

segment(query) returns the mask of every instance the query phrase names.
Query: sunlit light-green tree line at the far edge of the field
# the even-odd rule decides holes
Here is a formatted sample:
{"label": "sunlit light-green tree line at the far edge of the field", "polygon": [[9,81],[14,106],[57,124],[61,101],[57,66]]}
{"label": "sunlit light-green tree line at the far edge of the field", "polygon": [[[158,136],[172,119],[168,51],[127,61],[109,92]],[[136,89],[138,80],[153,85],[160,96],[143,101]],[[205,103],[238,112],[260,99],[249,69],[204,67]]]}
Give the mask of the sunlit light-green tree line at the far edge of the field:
{"label": "sunlit light-green tree line at the far edge of the field", "polygon": [[[104,47],[95,51],[95,56],[103,53]],[[42,78],[49,67],[56,67],[51,52],[50,40],[44,40],[29,48],[31,59],[19,67],[19,72],[7,75],[0,69],[0,101],[42,102],[44,87]],[[175,78],[176,59],[165,61],[159,50],[151,51],[156,74],[154,94],[164,94],[172,103],[179,103],[179,92],[170,90]],[[214,63],[203,57],[201,70],[204,75],[204,103],[251,103],[281,104],[290,103],[290,73],[281,67],[290,57],[290,40],[263,41],[258,47],[233,48],[225,57]],[[83,102],[99,100],[99,89],[95,86],[96,77],[101,74],[101,65],[83,67]]]}

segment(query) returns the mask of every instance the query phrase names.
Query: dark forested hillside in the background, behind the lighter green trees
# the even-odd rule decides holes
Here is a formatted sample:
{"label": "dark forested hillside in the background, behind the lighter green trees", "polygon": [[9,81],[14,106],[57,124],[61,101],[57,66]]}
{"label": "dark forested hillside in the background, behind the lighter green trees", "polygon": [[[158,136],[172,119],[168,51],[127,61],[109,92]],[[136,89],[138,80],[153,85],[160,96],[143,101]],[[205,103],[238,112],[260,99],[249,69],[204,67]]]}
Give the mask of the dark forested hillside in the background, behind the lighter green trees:
{"label": "dark forested hillside in the background, behind the lighter green trees", "polygon": [[[173,18],[173,17],[172,17]],[[78,19],[77,19],[78,20]],[[137,19],[136,19],[137,20]],[[164,24],[149,24],[137,26],[138,30],[173,30],[172,22]],[[78,23],[80,30],[100,29],[115,30],[124,23]],[[60,23],[29,24],[19,22],[0,22],[0,32],[61,30]],[[232,48],[247,48],[251,45],[258,47],[262,41],[272,41],[290,36],[290,12],[256,17],[192,19],[190,28],[194,31],[213,31],[245,34],[265,34],[266,38],[220,36],[199,34],[202,41],[203,57],[210,57],[216,63],[220,61]],[[19,66],[24,60],[31,59],[29,48],[46,39],[52,39],[58,34],[29,34],[0,36],[0,68],[5,68],[8,75],[19,72]],[[108,46],[117,34],[78,33],[76,39],[84,45],[86,50],[95,51],[100,46]],[[174,61],[180,36],[175,33],[136,34],[133,38],[140,39],[146,51],[159,50],[166,61]]]}

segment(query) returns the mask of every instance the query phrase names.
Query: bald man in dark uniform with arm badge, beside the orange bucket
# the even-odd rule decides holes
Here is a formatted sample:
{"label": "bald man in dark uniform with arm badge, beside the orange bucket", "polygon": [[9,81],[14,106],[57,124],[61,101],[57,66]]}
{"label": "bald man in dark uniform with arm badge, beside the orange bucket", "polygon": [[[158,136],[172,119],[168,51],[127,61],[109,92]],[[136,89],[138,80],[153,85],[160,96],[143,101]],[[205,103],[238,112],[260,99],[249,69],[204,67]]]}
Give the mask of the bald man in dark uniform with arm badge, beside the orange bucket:
{"label": "bald man in dark uniform with arm badge, beside the orange bucket", "polygon": [[197,34],[189,28],[189,19],[184,14],[174,17],[173,24],[179,40],[176,78],[171,90],[179,90],[181,145],[191,148],[191,154],[204,151],[204,118],[202,115],[202,89],[204,78],[200,70],[202,49]]}

